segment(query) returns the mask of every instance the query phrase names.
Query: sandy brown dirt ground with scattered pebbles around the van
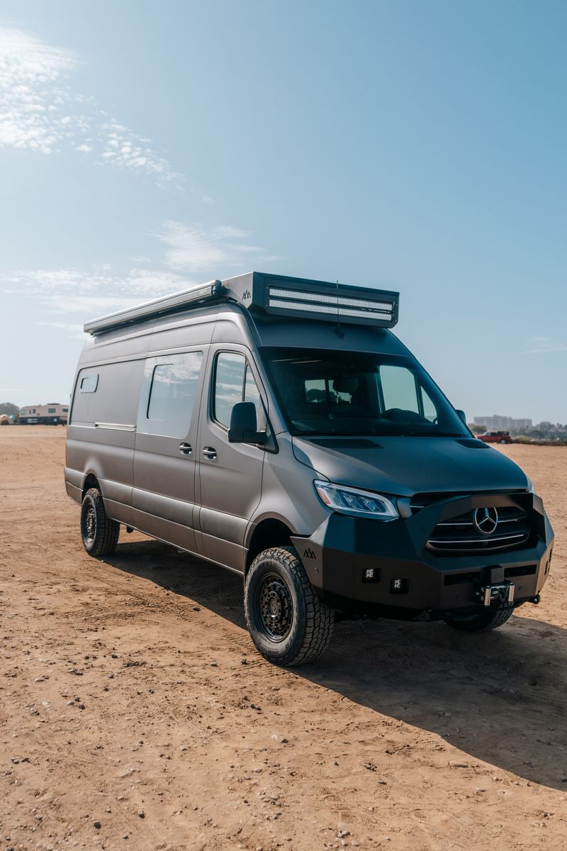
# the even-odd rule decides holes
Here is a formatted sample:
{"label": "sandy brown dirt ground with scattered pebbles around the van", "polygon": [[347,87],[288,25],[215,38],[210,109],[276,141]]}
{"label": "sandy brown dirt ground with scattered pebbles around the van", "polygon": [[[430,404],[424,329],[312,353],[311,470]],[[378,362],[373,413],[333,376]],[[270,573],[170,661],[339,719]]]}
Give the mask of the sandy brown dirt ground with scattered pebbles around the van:
{"label": "sandy brown dirt ground with scattered pebbles around the van", "polygon": [[557,535],[540,606],[339,624],[284,671],[234,574],[141,534],[82,551],[64,443],[0,429],[1,851],[567,848],[567,448],[502,448]]}

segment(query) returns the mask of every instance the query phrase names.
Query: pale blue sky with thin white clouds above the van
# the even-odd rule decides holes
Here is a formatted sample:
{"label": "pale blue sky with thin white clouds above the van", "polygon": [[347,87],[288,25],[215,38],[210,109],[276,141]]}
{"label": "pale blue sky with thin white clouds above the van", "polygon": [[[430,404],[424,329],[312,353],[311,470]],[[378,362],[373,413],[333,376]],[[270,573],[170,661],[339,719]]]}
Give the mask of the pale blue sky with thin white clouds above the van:
{"label": "pale blue sky with thin white clouds above the van", "polygon": [[567,4],[1,0],[0,402],[245,271],[400,291],[468,419],[567,422]]}

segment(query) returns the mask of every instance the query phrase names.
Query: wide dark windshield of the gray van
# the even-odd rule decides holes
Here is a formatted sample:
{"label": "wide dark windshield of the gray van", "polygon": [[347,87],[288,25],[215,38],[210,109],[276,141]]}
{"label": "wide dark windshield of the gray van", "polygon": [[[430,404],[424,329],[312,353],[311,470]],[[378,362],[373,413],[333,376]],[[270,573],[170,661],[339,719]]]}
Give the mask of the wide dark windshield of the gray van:
{"label": "wide dark windshield of the gray van", "polygon": [[411,357],[280,347],[260,353],[292,434],[470,437]]}

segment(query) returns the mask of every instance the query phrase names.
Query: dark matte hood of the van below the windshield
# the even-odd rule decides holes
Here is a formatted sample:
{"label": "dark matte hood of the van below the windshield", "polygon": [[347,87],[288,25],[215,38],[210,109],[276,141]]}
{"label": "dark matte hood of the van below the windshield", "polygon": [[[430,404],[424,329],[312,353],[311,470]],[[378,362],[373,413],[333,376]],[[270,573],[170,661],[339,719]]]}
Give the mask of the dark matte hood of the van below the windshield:
{"label": "dark matte hood of the van below the windshield", "polygon": [[472,438],[293,437],[293,453],[331,482],[397,496],[529,487],[518,465]]}

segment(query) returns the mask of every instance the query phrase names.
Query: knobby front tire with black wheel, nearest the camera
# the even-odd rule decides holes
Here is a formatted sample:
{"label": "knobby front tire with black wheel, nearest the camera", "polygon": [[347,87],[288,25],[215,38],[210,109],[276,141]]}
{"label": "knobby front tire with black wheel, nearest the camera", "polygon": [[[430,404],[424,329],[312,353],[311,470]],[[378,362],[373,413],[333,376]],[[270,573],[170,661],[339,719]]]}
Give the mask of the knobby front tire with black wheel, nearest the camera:
{"label": "knobby front tire with black wheel, nearest the camera", "polygon": [[311,662],[329,643],[334,612],[315,593],[292,546],[261,552],[244,585],[244,613],[253,643],[269,662]]}

